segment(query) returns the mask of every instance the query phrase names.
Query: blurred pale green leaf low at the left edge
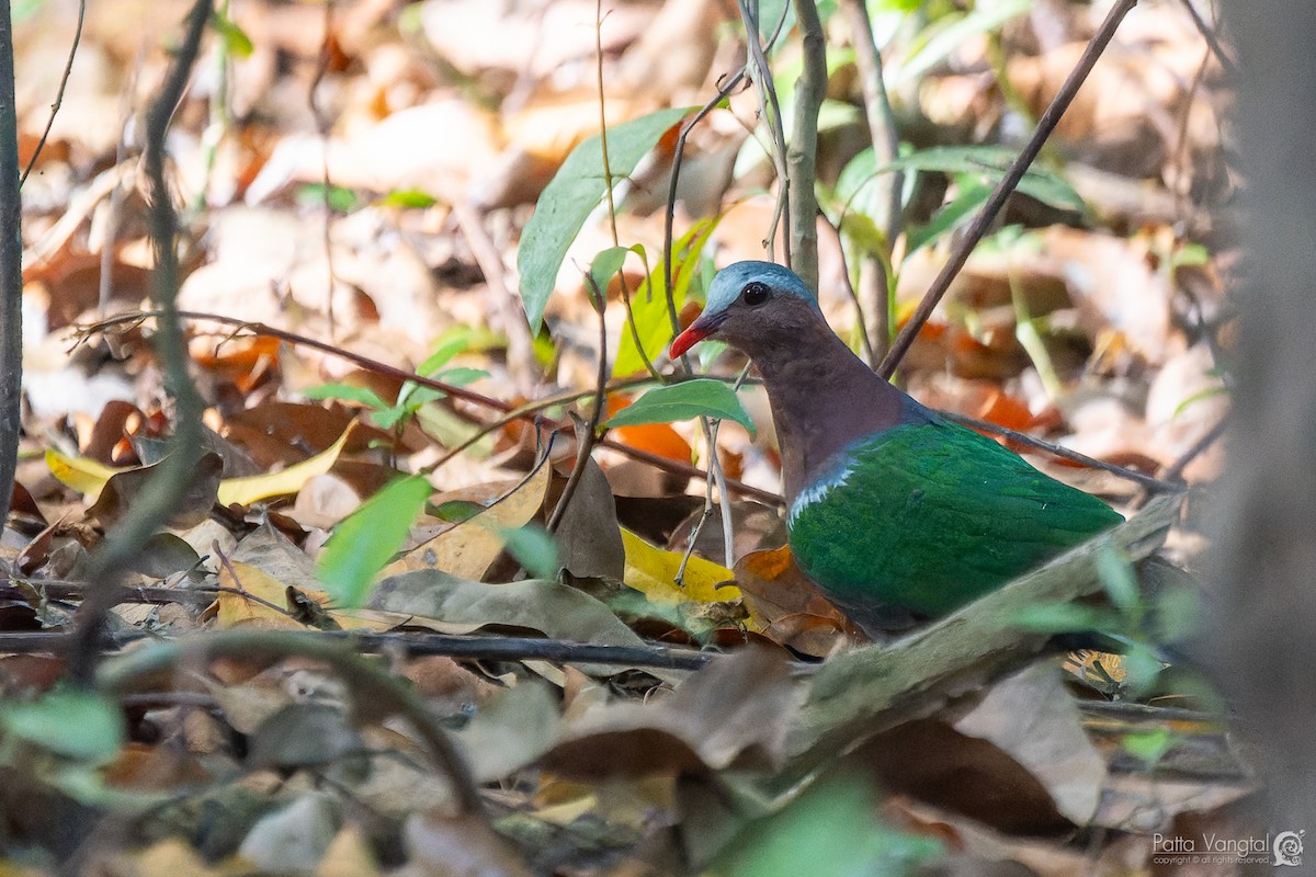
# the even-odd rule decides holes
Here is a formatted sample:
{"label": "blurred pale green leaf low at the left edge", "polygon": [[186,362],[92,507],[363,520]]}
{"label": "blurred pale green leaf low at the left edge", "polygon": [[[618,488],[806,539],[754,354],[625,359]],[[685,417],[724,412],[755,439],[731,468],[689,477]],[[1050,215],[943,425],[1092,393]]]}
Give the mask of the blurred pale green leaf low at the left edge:
{"label": "blurred pale green leaf low at the left edge", "polygon": [[97,764],[113,759],[126,739],[118,703],[71,685],[4,703],[0,727],[50,752]]}

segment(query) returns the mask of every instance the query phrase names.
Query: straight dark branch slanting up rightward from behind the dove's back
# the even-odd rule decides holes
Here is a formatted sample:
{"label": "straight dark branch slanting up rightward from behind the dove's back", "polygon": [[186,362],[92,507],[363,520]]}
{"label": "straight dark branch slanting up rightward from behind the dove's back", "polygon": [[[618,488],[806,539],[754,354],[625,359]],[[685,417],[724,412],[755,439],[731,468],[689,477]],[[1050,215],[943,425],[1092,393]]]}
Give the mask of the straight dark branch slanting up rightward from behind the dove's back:
{"label": "straight dark branch slanting up rightward from behind the dove's back", "polygon": [[1033,135],[1028,138],[1028,143],[1024,146],[1023,151],[1020,151],[1019,158],[1016,158],[1009,166],[1009,170],[1005,171],[1005,175],[1001,178],[1000,183],[996,184],[996,188],[987,199],[987,202],[983,204],[978,216],[975,216],[974,221],[969,224],[963,237],[951,251],[950,259],[942,267],[937,279],[933,280],[932,288],[928,289],[928,295],[925,295],[923,301],[919,302],[919,309],[900,331],[900,335],[896,338],[896,343],[891,346],[886,359],[882,360],[882,366],[878,368],[879,375],[890,379],[891,375],[895,373],[900,360],[904,359],[904,355],[909,351],[909,346],[913,344],[913,339],[917,338],[919,330],[923,329],[925,322],[928,322],[928,318],[941,301],[941,297],[945,296],[946,291],[950,288],[950,283],[969,260],[969,254],[973,252],[974,247],[978,246],[978,242],[982,241],[987,229],[995,221],[996,214],[1005,206],[1005,201],[1019,185],[1019,181],[1024,179],[1024,174],[1028,172],[1033,159],[1036,159],[1037,154],[1041,153],[1046,139],[1059,124],[1061,116],[1063,116],[1065,110],[1069,109],[1069,105],[1074,101],[1074,96],[1078,93],[1078,89],[1083,85],[1083,82],[1087,79],[1087,75],[1092,72],[1092,67],[1101,57],[1101,53],[1105,51],[1107,45],[1109,45],[1111,39],[1115,37],[1115,32],[1120,26],[1120,21],[1124,20],[1124,16],[1128,14],[1129,9],[1137,5],[1137,1],[1138,0],[1116,0],[1116,3],[1111,7],[1111,12],[1105,16],[1105,21],[1101,22],[1101,28],[1096,32],[1096,36],[1092,37],[1087,49],[1083,50],[1083,55],[1079,58],[1078,66],[1070,71],[1070,75],[1065,79],[1065,83],[1061,85],[1055,99],[1037,121],[1037,128],[1033,130]]}

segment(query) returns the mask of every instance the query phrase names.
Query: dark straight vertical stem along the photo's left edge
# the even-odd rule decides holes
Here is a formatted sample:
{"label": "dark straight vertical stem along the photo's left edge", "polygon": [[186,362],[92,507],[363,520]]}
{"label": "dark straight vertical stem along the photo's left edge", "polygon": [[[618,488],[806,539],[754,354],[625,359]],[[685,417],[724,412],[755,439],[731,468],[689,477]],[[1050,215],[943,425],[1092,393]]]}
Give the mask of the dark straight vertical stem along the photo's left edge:
{"label": "dark straight vertical stem along the photo's left edge", "polygon": [[22,429],[22,201],[13,101],[13,24],[9,0],[0,0],[0,533],[9,515]]}

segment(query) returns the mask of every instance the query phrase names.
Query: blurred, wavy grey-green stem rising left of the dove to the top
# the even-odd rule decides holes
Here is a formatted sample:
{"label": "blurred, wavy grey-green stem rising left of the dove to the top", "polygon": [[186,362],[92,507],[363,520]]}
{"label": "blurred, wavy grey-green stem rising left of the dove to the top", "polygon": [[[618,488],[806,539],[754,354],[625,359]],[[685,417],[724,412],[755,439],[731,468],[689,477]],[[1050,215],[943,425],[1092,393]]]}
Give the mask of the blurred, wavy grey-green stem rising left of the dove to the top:
{"label": "blurred, wavy grey-green stem rising left of the dove to the top", "polygon": [[150,230],[155,245],[155,271],[151,296],[159,308],[155,348],[164,380],[174,393],[174,434],[168,454],[157,473],[138,494],[133,514],[105,535],[92,555],[87,580],[93,585],[78,610],[74,648],[68,668],[75,680],[89,681],[100,656],[99,640],[105,618],[118,602],[118,579],[141,546],[170,518],[191,481],[200,459],[201,397],[187,373],[187,347],[179,323],[178,298],[178,217],[164,179],[164,139],[174,108],[187,89],[192,66],[211,14],[211,0],[197,0],[188,13],[187,34],[174,59],[174,67],[146,116],[146,176],[151,188]]}

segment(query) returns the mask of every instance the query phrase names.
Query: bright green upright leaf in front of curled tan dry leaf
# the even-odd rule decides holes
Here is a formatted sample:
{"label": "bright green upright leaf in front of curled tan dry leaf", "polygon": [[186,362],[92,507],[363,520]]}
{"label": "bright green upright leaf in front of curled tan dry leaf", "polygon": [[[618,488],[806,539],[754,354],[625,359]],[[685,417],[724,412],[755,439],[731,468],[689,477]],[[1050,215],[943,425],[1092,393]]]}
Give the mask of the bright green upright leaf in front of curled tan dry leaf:
{"label": "bright green upright leaf in front of curled tan dry leaf", "polygon": [[334,602],[340,606],[366,602],[375,573],[401,547],[429,494],[429,481],[421,476],[397,479],[334,529],[316,565],[316,575]]}

